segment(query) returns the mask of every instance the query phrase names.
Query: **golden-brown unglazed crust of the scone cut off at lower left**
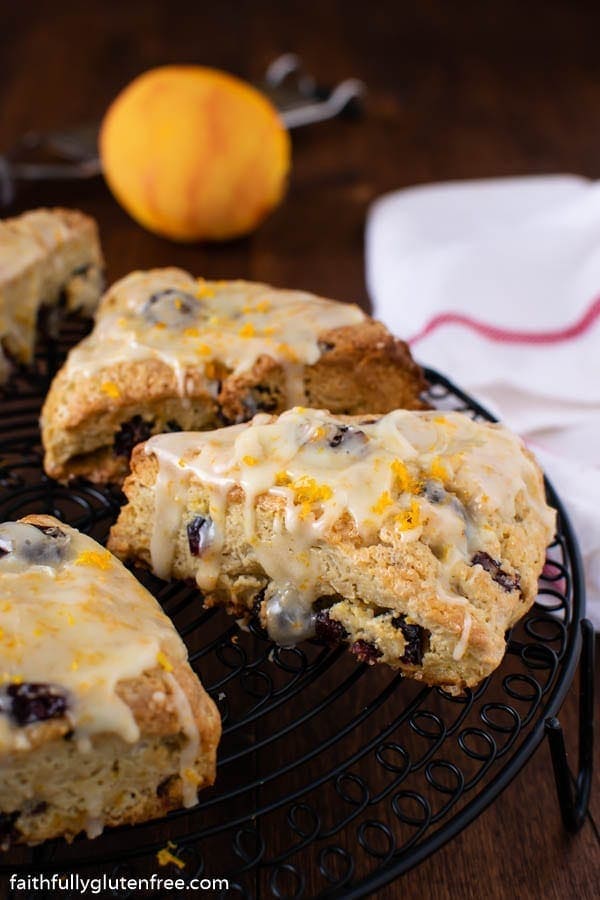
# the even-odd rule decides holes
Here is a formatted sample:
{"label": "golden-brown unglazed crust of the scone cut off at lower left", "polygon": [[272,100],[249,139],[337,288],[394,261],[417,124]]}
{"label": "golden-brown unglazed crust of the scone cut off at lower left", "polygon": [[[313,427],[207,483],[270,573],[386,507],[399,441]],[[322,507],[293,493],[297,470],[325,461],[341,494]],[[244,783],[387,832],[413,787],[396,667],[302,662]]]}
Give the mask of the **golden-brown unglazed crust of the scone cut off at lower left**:
{"label": "golden-brown unglazed crust of the scone cut off at lower left", "polygon": [[[44,515],[21,521],[57,525]],[[139,590],[133,576],[127,578]],[[123,596],[124,603],[127,599]],[[83,829],[95,834],[99,826],[141,822],[181,806],[190,784],[199,790],[214,782],[221,735],[217,708],[181,657],[179,642],[171,645],[168,631],[164,635],[160,665],[115,686],[139,728],[138,740],[126,741],[107,729],[80,746],[67,713],[20,727],[20,740],[0,753],[0,812],[12,822],[10,841],[71,840]],[[197,750],[183,768],[183,754],[195,746],[190,744],[195,736]],[[184,790],[188,776],[192,780]]]}

